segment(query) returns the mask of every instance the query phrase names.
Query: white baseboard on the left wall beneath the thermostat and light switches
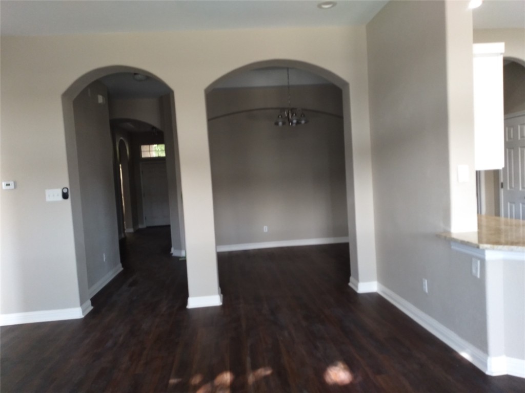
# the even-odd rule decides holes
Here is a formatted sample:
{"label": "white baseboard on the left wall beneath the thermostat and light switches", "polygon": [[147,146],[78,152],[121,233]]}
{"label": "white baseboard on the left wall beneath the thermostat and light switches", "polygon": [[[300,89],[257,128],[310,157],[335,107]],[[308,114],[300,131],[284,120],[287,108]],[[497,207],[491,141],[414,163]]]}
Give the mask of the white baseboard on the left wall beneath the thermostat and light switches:
{"label": "white baseboard on the left wall beneath the thermostat and light switches", "polygon": [[42,310],[19,312],[0,315],[0,326],[18,325],[23,323],[64,321],[68,319],[83,318],[93,307],[91,301],[82,304],[81,307],[59,310]]}

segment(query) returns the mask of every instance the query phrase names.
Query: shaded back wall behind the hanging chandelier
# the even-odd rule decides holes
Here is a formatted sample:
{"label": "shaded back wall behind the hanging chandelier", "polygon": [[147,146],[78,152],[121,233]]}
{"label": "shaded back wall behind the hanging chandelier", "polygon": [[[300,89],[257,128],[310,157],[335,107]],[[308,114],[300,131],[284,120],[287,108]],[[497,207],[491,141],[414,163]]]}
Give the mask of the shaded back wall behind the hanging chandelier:
{"label": "shaded back wall behind the hanging chandelier", "polygon": [[[285,105],[286,90],[213,90],[208,118]],[[293,86],[291,103],[308,124],[276,127],[275,109],[208,123],[217,245],[348,236],[341,90]]]}

